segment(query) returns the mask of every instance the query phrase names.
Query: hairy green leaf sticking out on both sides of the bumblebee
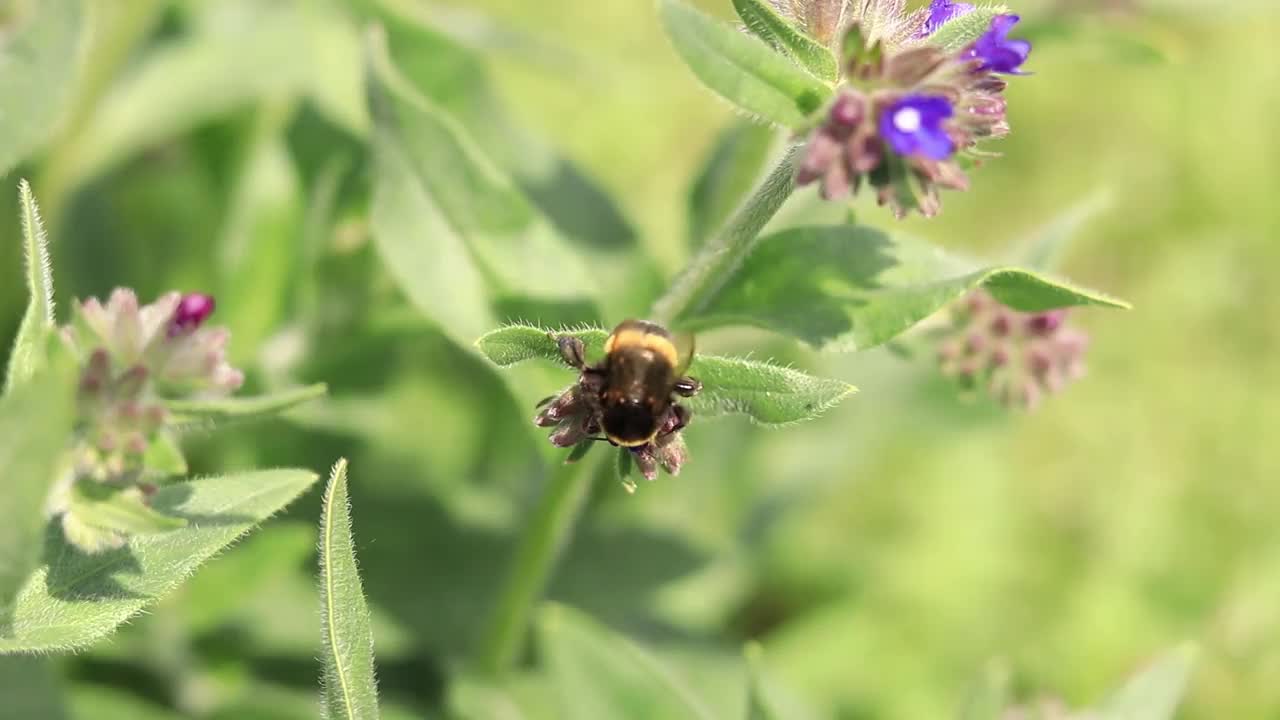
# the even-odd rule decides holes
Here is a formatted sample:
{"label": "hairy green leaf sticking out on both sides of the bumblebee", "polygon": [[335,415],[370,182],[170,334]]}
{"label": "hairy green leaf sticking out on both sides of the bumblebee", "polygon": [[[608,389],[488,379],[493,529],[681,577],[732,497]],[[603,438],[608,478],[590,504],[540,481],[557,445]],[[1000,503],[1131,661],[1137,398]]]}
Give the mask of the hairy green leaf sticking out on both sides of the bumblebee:
{"label": "hairy green leaf sticking out on both sides of the bumblebee", "polygon": [[[547,331],[531,325],[508,325],[485,333],[476,347],[499,366],[525,360],[563,364],[556,336],[577,337],[589,359],[603,354],[602,329]],[[799,423],[820,415],[855,388],[841,380],[814,378],[799,370],[740,357],[696,355],[689,374],[703,383],[696,396],[682,400],[698,418],[748,415],[764,425]]]}

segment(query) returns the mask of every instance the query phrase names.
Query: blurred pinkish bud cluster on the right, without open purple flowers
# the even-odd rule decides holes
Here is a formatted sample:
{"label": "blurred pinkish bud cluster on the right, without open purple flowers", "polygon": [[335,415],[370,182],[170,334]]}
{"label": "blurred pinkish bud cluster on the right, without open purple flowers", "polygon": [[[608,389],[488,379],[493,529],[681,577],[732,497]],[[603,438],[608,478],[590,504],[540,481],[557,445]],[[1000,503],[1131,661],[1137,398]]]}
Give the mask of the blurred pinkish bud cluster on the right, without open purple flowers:
{"label": "blurred pinkish bud cluster on the right, without open purple flowers", "polygon": [[974,291],[951,311],[938,364],[965,388],[1032,410],[1046,393],[1084,374],[1089,338],[1066,325],[1066,313],[1019,313],[986,291]]}

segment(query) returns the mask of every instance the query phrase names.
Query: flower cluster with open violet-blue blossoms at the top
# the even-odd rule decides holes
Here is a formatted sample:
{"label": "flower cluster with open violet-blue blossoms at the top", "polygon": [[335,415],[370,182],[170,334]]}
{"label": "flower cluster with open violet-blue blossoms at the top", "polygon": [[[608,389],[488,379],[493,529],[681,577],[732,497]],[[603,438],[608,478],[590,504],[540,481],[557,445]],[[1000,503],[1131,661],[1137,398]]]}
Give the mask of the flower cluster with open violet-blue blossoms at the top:
{"label": "flower cluster with open violet-blue blossoms at the top", "polygon": [[[996,15],[987,31],[959,50],[932,44],[948,22],[974,12],[968,3],[933,0],[906,13],[901,0],[794,0],[782,8],[810,33],[817,10],[840,5],[850,18],[840,51],[842,83],[822,123],[814,128],[796,172],[799,184],[818,183],[836,200],[856,193],[865,181],[897,217],[941,210],[942,188],[965,190],[963,164],[977,163],[984,140],[1009,133],[1001,74],[1021,74],[1030,44],[1009,37],[1018,15]],[[831,37],[815,36],[824,42]]]}

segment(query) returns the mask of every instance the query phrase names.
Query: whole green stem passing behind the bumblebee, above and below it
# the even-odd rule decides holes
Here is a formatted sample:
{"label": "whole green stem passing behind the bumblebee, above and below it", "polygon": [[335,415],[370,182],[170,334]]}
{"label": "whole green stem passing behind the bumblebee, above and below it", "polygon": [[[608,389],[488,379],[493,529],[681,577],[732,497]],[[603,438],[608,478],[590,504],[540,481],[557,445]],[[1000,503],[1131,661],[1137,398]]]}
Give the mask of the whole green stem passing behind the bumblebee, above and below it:
{"label": "whole green stem passing behind the bumblebee, above and below it", "polygon": [[[795,190],[797,151],[799,147],[787,150],[724,228],[703,246],[671,288],[658,299],[652,313],[657,322],[669,323],[696,313],[723,287],[755,247],[760,231]],[[504,673],[520,656],[534,606],[541,600],[556,561],[573,534],[591,479],[603,468],[599,462],[590,462],[591,470],[584,471],[582,465],[588,462],[559,468],[538,500],[538,507],[520,538],[507,580],[481,638],[476,666],[483,673]]]}

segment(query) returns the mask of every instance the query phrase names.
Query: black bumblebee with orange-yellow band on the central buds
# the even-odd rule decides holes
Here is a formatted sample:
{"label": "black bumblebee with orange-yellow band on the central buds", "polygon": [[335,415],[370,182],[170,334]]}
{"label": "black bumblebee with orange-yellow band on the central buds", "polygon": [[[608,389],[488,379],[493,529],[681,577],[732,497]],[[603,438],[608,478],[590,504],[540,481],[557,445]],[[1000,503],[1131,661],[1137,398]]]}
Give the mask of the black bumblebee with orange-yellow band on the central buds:
{"label": "black bumblebee with orange-yellow band on the central buds", "polygon": [[581,372],[579,386],[611,443],[639,447],[689,424],[691,414],[676,396],[692,397],[703,387],[685,375],[694,357],[691,341],[682,351],[662,325],[623,320],[604,341],[604,359],[595,365],[586,363],[576,337],[559,336],[556,343],[564,361]]}

